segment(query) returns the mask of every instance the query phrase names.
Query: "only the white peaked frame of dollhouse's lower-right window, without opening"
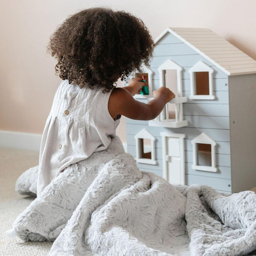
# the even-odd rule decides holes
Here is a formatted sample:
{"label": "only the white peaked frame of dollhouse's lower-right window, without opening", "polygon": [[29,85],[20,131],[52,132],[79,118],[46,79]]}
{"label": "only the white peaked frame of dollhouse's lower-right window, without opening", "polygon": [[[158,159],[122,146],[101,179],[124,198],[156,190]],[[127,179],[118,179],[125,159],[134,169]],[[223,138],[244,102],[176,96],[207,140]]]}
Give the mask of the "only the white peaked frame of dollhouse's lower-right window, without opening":
{"label": "only the white peaked frame of dollhouse's lower-right window, without opening", "polygon": [[[218,168],[216,168],[216,154],[215,154],[215,147],[217,143],[215,140],[212,140],[207,134],[201,133],[198,137],[195,137],[191,141],[192,148],[193,148],[193,165],[192,169],[198,170],[198,171],[205,171],[205,172],[218,172]],[[198,165],[198,149],[197,145],[198,143],[202,144],[210,144],[211,145],[211,157],[212,157],[212,165],[211,166],[199,166]]]}

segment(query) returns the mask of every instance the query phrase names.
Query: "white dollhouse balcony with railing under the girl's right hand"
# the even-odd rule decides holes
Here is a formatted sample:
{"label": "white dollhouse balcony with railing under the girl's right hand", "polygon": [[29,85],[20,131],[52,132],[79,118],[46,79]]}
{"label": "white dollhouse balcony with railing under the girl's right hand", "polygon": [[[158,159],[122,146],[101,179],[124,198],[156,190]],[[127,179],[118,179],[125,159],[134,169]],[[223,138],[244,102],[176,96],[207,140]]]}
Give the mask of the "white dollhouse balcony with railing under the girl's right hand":
{"label": "white dollhouse balcony with railing under the girl's right hand", "polygon": [[[148,122],[149,126],[180,128],[188,125],[188,121],[183,120],[183,103],[187,102],[187,97],[178,97],[168,102],[163,111],[153,120]],[[169,104],[175,104],[175,111],[170,111]]]}

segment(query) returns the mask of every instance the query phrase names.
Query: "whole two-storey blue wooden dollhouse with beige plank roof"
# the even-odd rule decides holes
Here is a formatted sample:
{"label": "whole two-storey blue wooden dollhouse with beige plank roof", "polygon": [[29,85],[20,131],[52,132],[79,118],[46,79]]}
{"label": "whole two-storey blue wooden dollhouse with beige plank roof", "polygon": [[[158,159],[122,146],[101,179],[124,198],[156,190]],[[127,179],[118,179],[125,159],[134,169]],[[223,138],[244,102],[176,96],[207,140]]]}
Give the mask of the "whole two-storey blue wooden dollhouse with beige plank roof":
{"label": "whole two-storey blue wooden dollhouse with beige plank roof", "polygon": [[253,58],[210,29],[167,28],[150,67],[134,76],[147,87],[134,96],[141,102],[160,86],[175,93],[154,120],[126,119],[127,151],[140,170],[226,193],[256,186]]}

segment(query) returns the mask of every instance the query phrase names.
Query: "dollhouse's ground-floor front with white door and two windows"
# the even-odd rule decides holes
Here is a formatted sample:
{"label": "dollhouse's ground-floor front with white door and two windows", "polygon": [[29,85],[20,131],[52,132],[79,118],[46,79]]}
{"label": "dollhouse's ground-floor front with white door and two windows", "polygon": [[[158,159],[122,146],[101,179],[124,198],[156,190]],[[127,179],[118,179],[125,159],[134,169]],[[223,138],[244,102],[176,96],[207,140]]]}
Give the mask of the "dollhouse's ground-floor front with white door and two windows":
{"label": "dollhouse's ground-floor front with white door and two windows", "polygon": [[170,183],[202,184],[231,193],[229,131],[149,126],[126,119],[127,152],[141,171]]}

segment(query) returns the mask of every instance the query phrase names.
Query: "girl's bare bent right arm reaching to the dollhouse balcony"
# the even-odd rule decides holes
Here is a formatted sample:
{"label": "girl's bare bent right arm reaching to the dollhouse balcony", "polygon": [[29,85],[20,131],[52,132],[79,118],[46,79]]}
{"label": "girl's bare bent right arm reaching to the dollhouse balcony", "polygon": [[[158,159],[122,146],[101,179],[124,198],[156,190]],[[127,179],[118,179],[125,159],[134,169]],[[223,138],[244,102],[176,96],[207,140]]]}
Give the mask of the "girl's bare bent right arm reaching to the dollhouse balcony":
{"label": "girl's bare bent right arm reaching to the dollhouse balcony", "polygon": [[128,90],[114,88],[108,101],[108,111],[113,119],[118,114],[135,120],[154,119],[166,103],[175,98],[175,94],[166,87],[160,87],[153,95],[154,99],[145,104],[135,100]]}

